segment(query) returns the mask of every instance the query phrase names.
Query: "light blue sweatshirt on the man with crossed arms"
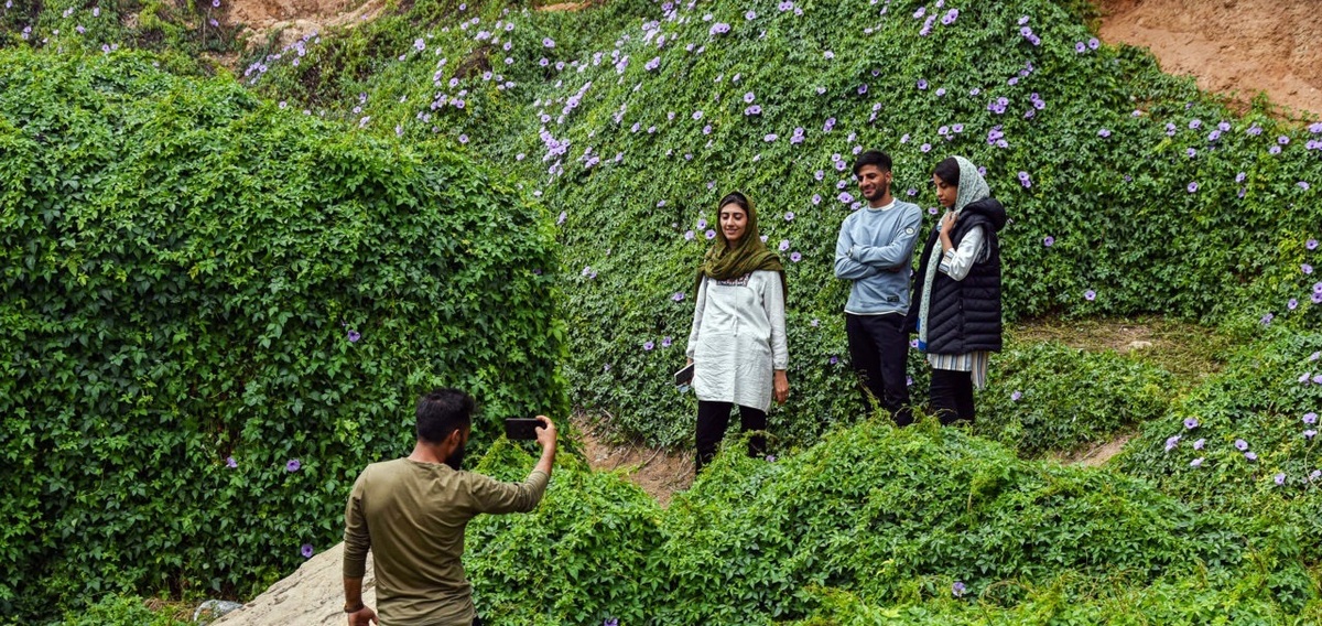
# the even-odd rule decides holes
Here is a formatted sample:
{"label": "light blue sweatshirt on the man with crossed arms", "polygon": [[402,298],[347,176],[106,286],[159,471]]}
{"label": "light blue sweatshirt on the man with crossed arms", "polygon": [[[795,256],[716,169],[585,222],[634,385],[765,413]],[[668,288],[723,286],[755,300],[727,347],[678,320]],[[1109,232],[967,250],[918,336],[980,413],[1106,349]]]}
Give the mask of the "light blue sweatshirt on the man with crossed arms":
{"label": "light blue sweatshirt on the man with crossed arms", "polygon": [[921,225],[923,210],[899,200],[845,218],[836,241],[836,278],[854,282],[845,312],[908,312],[911,259]]}

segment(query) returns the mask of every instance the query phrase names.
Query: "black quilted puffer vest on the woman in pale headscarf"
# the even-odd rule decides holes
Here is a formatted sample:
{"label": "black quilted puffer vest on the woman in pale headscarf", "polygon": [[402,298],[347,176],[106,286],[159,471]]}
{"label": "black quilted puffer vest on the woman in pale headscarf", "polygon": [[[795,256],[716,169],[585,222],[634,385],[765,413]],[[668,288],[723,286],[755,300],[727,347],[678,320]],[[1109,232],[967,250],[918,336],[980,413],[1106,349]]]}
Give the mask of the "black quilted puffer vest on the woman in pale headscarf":
{"label": "black quilted puffer vest on the woman in pale headscarf", "polygon": [[[997,232],[1005,225],[1005,208],[995,199],[969,204],[954,224],[951,242],[960,241],[974,228],[982,228],[988,257],[973,263],[962,281],[937,271],[932,278],[932,302],[927,310],[927,352],[933,355],[965,355],[969,352],[1001,351],[1001,244]],[[923,255],[910,299],[908,327],[914,332],[923,298],[923,281],[928,259],[940,236],[936,228],[923,246]]]}

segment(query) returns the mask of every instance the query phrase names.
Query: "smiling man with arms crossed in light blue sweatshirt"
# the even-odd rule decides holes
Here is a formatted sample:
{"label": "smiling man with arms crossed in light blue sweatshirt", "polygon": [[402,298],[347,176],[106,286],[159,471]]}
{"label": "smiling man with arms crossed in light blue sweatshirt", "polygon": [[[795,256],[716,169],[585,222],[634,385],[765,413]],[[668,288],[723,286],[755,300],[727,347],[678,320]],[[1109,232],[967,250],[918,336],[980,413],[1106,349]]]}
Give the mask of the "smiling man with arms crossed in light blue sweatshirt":
{"label": "smiling man with arms crossed in light blue sweatshirt", "polygon": [[891,157],[870,150],[854,163],[854,179],[867,206],[850,213],[836,241],[836,278],[853,281],[845,303],[849,356],[861,379],[863,401],[876,400],[899,426],[910,412],[908,312],[910,265],[923,213],[891,196]]}

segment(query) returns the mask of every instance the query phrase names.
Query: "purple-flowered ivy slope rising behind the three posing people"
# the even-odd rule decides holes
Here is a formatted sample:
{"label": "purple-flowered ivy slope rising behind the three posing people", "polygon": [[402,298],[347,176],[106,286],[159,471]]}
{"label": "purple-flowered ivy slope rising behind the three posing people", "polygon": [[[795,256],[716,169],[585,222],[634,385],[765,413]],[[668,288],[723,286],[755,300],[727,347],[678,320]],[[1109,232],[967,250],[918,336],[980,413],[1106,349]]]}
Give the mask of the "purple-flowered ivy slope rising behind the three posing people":
{"label": "purple-flowered ivy slope rising behind the three posing people", "polygon": [[1011,216],[1009,319],[1322,320],[1305,269],[1322,124],[1235,112],[1056,3],[416,3],[245,78],[537,180],[567,249],[575,400],[649,442],[689,437],[691,404],[668,380],[732,188],[788,261],[796,393],[773,429],[813,437],[858,413],[832,255],[865,148],[888,150],[896,195],[924,208],[944,156],[986,168]]}

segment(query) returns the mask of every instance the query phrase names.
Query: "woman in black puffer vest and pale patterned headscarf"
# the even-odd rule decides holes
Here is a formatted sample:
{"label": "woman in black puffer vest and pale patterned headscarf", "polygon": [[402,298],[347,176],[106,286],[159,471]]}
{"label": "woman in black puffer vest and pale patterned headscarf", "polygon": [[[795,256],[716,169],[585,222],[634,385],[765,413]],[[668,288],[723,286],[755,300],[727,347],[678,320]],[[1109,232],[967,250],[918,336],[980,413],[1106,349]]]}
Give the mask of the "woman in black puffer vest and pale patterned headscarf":
{"label": "woman in black puffer vest and pale patterned headscarf", "polygon": [[908,324],[932,365],[928,410],[944,425],[972,422],[973,388],[986,385],[988,360],[1001,351],[1005,206],[962,156],[939,163],[932,183],[947,212],[919,255]]}

